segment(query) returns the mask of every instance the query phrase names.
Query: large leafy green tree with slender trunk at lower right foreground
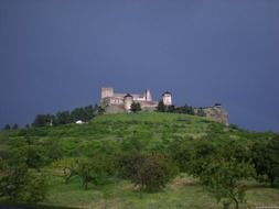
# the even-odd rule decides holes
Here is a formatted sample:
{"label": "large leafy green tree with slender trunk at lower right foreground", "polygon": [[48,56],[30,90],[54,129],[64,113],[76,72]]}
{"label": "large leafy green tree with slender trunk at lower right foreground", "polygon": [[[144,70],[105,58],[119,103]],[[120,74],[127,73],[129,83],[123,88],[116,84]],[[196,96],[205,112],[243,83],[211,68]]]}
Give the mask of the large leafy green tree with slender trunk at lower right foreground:
{"label": "large leafy green tree with slender trunk at lower right foreground", "polygon": [[[247,148],[236,141],[213,145],[203,142],[194,146],[190,174],[198,177],[201,184],[228,208],[233,202],[238,209],[245,198],[244,179],[254,176]],[[202,158],[201,158],[202,157]]]}

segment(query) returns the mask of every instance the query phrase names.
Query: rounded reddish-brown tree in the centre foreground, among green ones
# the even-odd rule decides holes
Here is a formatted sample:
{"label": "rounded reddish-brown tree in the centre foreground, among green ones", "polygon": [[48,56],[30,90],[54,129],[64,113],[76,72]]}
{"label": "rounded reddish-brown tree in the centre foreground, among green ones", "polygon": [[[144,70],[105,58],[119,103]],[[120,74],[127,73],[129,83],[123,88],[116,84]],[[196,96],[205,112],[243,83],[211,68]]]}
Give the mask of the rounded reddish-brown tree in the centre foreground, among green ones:
{"label": "rounded reddish-brown tree in the centre foreground, among green ones", "polygon": [[157,191],[176,174],[176,167],[161,154],[127,153],[119,158],[122,177],[130,179],[140,191]]}

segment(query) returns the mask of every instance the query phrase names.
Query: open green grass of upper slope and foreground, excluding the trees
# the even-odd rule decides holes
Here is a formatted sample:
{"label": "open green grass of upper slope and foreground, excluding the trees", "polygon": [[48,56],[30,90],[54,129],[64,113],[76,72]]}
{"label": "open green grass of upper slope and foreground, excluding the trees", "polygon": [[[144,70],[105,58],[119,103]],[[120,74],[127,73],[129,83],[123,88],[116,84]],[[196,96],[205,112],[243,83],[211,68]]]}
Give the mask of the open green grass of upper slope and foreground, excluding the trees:
{"label": "open green grass of upper slope and foreground, excluding the trees", "polygon": [[[273,133],[256,133],[212,120],[175,113],[119,113],[94,118],[87,124],[66,124],[17,131],[2,131],[0,143],[3,148],[11,140],[25,139],[47,150],[47,155],[60,157],[93,156],[95,151],[121,152],[124,142],[139,139],[143,148],[157,151],[173,140],[211,138],[216,143],[225,139],[249,144],[256,139]],[[1,150],[0,148],[0,150]],[[61,154],[62,153],[62,154]],[[85,190],[81,179],[74,177],[65,184],[52,163],[42,172],[47,176],[49,191],[42,202],[51,206],[76,208],[221,208],[216,200],[185,174],[180,174],[159,193],[140,194],[128,180],[112,177],[106,185],[89,185]],[[255,206],[279,206],[279,190],[262,186],[254,180],[248,183],[247,204]]]}

